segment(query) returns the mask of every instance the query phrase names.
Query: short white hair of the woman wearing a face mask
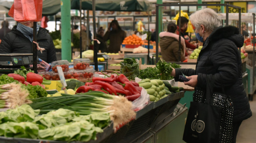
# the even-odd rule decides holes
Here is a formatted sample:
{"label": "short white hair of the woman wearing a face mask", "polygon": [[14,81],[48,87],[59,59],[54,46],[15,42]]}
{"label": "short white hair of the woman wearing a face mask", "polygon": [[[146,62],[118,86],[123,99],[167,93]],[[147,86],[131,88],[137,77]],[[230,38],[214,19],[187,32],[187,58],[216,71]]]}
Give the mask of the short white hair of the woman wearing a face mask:
{"label": "short white hair of the woman wearing a face mask", "polygon": [[207,32],[212,32],[222,25],[221,19],[211,8],[201,9],[192,13],[190,15],[190,20],[196,29],[199,29],[202,24]]}

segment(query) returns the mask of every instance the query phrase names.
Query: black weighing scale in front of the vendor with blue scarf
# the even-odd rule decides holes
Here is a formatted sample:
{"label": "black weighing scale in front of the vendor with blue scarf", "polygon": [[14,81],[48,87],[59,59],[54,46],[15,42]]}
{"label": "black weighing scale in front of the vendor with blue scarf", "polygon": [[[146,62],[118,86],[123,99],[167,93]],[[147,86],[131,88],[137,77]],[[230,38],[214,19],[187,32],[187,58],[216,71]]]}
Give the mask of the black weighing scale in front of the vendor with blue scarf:
{"label": "black weighing scale in front of the vendor with blue scarf", "polygon": [[14,73],[15,70],[25,66],[26,69],[33,69],[33,54],[27,53],[5,53],[0,54],[0,73]]}

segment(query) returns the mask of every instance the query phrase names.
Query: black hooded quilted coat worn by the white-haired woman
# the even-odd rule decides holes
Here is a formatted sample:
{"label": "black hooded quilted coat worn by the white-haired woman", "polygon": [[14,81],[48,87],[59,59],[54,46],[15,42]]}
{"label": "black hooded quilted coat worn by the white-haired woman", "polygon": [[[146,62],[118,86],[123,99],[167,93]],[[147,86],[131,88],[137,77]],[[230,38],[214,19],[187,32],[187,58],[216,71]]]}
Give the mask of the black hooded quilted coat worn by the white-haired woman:
{"label": "black hooded quilted coat worn by the white-haired woman", "polygon": [[[198,75],[197,87],[206,88],[206,75],[214,75],[214,91],[231,97],[234,105],[234,121],[245,120],[252,116],[248,98],[242,84],[241,54],[244,38],[233,26],[218,27],[206,39],[197,58],[196,70],[176,69],[175,80],[184,73]],[[196,88],[197,88],[196,87]]]}

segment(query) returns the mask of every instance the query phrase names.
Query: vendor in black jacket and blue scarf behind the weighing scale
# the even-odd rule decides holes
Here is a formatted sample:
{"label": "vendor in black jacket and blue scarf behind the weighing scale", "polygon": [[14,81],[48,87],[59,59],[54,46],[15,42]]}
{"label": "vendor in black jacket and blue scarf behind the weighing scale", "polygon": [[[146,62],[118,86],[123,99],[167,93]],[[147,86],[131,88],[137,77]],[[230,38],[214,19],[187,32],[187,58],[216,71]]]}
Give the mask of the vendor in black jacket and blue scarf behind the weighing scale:
{"label": "vendor in black jacket and blue scarf behind the weighing scale", "polygon": [[[33,53],[33,22],[18,22],[0,43],[0,53]],[[56,52],[51,36],[37,26],[37,43],[45,50],[37,51],[38,58],[51,63],[56,61]]]}

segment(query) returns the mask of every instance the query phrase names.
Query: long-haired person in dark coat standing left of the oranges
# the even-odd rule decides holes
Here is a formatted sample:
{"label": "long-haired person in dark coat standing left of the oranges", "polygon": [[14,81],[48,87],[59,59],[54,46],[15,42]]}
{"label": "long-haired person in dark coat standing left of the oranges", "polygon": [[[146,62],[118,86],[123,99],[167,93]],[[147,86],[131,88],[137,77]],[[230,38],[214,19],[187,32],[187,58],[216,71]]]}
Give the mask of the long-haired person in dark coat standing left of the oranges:
{"label": "long-haired person in dark coat standing left of the oranges", "polygon": [[117,20],[112,20],[108,27],[108,31],[103,36],[103,40],[109,40],[108,53],[118,53],[120,46],[126,37],[125,31],[121,29]]}

